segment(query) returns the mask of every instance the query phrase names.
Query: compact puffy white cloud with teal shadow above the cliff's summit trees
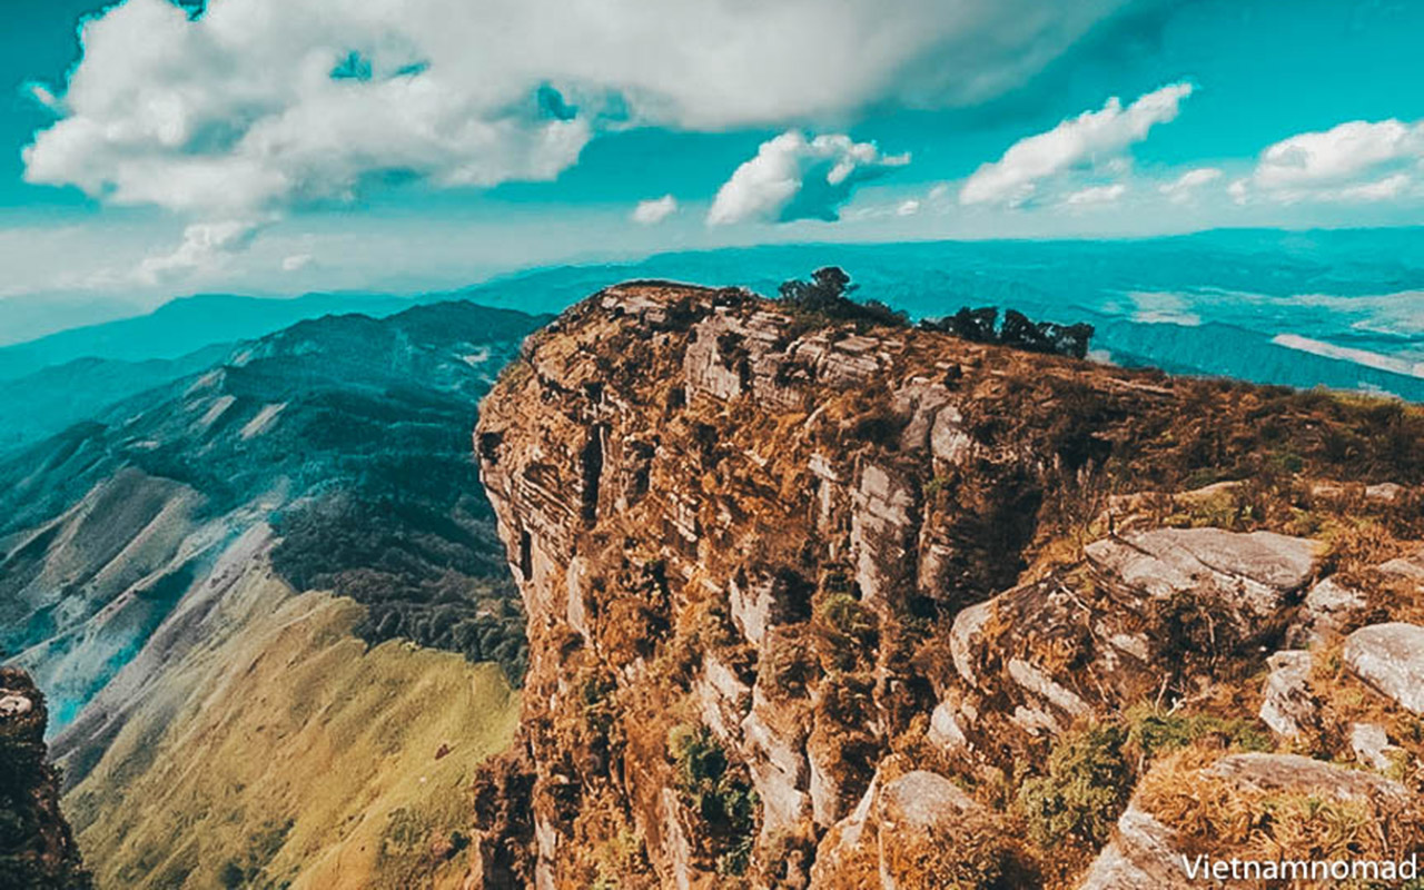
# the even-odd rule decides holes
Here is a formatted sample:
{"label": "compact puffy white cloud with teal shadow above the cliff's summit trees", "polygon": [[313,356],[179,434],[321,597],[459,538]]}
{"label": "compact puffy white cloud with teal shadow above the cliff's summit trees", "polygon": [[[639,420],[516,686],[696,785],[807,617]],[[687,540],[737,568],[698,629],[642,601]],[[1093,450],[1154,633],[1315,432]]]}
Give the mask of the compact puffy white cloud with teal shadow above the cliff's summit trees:
{"label": "compact puffy white cloud with teal shadow above the cliff's summit trees", "polygon": [[722,184],[708,211],[708,224],[832,222],[840,218],[840,205],[857,185],[909,162],[909,154],[883,155],[874,144],[856,142],[844,134],[807,140],[806,134],[789,130],[762,142],[756,157]]}

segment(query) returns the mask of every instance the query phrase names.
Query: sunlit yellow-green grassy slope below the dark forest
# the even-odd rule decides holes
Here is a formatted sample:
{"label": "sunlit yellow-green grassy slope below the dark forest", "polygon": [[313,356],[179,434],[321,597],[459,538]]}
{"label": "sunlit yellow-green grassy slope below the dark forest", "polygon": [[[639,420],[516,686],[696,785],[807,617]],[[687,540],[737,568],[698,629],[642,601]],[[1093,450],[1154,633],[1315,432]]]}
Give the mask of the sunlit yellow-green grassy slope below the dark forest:
{"label": "sunlit yellow-green grassy slope below the dark forest", "polygon": [[268,572],[224,608],[242,614],[234,631],[188,654],[66,797],[98,886],[463,874],[464,789],[518,715],[500,669],[406,642],[367,649],[352,635],[359,605],[292,597]]}

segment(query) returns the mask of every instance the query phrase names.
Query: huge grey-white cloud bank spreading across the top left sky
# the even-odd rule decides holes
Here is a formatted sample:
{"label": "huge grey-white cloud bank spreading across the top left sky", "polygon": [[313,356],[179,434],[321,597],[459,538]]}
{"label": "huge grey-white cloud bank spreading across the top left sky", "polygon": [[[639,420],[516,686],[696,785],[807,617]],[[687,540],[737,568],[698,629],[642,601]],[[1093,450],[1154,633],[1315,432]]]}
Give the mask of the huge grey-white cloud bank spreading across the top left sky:
{"label": "huge grey-white cloud bank spreading across the top left sky", "polygon": [[553,179],[607,128],[978,103],[1168,1],[222,0],[191,17],[124,0],[87,20],[63,90],[31,90],[60,120],[26,169],[205,222],[373,179]]}

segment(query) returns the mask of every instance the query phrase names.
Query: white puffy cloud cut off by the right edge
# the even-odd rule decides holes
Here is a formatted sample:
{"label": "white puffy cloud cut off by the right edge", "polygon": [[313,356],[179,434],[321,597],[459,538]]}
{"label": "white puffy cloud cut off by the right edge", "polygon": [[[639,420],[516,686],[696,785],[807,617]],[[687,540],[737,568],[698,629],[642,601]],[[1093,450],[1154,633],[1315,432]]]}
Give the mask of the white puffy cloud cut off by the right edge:
{"label": "white puffy cloud cut off by the right edge", "polygon": [[1267,147],[1233,197],[1270,201],[1387,201],[1411,191],[1424,165],[1424,121],[1347,121]]}

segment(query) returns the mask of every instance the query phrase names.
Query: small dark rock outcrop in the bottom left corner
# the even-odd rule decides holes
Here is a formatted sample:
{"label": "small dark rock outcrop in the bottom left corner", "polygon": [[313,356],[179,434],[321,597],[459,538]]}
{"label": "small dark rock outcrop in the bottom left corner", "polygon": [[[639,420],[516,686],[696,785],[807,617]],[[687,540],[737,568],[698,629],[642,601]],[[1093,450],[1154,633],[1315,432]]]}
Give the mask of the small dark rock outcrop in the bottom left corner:
{"label": "small dark rock outcrop in the bottom left corner", "polygon": [[88,887],[60,813],[60,776],[46,762],[44,695],[27,674],[0,668],[0,887]]}

